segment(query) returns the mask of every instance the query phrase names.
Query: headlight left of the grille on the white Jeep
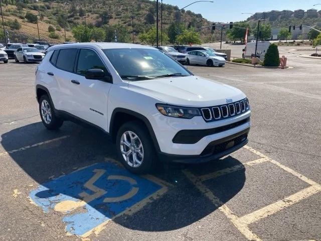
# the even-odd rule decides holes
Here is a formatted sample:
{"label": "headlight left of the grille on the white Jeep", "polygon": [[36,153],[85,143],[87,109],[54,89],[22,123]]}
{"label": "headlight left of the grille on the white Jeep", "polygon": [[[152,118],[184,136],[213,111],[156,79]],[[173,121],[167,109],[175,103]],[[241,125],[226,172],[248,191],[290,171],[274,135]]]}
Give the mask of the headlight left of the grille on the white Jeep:
{"label": "headlight left of the grille on the white Jeep", "polygon": [[201,116],[201,113],[197,108],[174,106],[168,104],[156,104],[156,108],[162,114],[170,117],[191,119],[194,116]]}

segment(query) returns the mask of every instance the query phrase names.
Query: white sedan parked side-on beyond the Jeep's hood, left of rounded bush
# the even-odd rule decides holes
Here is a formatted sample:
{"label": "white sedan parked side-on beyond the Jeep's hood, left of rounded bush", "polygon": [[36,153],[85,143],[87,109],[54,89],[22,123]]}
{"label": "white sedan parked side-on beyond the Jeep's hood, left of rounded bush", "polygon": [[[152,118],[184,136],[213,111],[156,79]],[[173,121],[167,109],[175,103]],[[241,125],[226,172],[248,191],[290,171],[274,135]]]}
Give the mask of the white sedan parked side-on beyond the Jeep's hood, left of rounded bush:
{"label": "white sedan parked side-on beyond the Jeep's hood, left of rounded bush", "polygon": [[201,64],[223,67],[226,60],[205,50],[195,50],[187,53],[187,64]]}

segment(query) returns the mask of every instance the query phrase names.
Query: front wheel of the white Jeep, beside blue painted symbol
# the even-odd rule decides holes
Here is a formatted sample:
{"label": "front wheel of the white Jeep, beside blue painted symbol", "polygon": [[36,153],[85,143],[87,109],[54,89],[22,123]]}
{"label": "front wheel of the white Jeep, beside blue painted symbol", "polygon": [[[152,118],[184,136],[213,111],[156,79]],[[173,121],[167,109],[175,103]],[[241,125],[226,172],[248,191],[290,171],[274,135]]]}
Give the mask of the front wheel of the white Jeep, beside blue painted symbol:
{"label": "front wheel of the white Jeep, beside blue painted symbol", "polygon": [[148,130],[138,121],[123,124],[116,137],[117,158],[132,173],[154,169],[156,153]]}

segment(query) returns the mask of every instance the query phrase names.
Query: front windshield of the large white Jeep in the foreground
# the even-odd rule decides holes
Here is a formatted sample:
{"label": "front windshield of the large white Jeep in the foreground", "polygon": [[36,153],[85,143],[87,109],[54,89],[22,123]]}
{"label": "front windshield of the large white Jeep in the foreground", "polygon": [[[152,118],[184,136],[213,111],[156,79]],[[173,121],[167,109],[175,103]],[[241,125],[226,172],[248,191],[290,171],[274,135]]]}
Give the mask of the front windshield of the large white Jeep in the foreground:
{"label": "front windshield of the large white Jeep in the foreground", "polygon": [[122,79],[142,80],[191,75],[187,69],[159,50],[104,49],[103,52]]}

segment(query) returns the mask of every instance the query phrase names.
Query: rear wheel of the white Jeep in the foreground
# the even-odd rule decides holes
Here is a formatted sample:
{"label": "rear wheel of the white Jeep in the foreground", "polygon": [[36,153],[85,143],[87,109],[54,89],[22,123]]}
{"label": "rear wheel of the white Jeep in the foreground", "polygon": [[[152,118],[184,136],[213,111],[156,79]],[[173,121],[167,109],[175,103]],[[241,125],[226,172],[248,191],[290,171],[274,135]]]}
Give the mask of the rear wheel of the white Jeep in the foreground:
{"label": "rear wheel of the white Jeep in the foreground", "polygon": [[53,105],[48,95],[42,95],[39,100],[39,112],[41,121],[48,130],[57,130],[64,123],[63,119],[55,114]]}

